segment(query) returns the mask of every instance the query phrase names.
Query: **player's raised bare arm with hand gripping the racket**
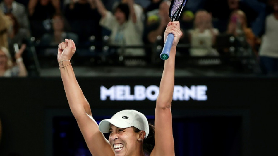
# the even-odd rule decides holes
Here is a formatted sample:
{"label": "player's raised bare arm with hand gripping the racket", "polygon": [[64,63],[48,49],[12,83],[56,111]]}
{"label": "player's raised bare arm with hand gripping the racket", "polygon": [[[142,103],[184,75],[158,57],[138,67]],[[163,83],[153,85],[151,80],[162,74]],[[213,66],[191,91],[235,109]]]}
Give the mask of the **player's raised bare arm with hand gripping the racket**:
{"label": "player's raised bare arm with hand gripping the racket", "polygon": [[164,70],[159,86],[155,108],[155,148],[154,156],[174,156],[171,103],[174,91],[176,46],[182,35],[179,22],[170,22],[164,34],[164,42],[169,33],[174,35],[169,59],[164,62]]}

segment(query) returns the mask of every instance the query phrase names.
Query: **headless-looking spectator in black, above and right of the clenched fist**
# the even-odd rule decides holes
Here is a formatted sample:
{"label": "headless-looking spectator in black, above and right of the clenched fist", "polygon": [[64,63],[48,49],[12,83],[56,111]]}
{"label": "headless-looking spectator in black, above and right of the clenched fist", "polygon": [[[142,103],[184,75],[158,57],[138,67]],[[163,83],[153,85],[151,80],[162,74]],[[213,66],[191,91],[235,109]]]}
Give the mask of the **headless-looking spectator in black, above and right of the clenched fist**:
{"label": "headless-looking spectator in black, above and right of the clenched fist", "polygon": [[72,32],[78,34],[80,43],[89,45],[89,37],[101,41],[100,15],[92,0],[71,0],[64,11]]}

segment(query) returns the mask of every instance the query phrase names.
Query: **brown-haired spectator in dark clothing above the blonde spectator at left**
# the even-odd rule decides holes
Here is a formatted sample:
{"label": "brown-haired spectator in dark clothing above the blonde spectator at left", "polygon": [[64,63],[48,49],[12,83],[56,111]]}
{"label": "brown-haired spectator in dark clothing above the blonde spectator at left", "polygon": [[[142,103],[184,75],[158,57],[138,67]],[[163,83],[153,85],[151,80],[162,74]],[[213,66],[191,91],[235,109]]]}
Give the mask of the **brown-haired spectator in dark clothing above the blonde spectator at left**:
{"label": "brown-haired spectator in dark clothing above the blonde spectator at left", "polygon": [[[18,20],[13,14],[6,14],[11,21],[11,29],[8,32],[8,43],[9,43],[9,52],[12,56],[14,56],[14,44],[18,44],[21,46],[26,43],[26,39],[28,37],[28,32],[26,29],[20,28]],[[26,44],[24,45],[26,46]]]}

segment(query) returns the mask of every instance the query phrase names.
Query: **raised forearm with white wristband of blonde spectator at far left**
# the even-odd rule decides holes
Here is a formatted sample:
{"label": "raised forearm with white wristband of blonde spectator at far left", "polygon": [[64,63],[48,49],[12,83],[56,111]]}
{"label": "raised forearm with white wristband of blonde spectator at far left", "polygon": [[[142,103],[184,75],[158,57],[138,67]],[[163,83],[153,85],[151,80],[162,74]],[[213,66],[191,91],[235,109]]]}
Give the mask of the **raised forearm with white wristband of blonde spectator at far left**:
{"label": "raised forearm with white wristband of blonde spectator at far left", "polygon": [[18,66],[18,69],[19,69],[19,73],[18,73],[19,77],[25,77],[28,75],[26,67],[25,67],[22,57],[21,57],[22,53],[24,52],[25,49],[26,49],[26,44],[22,44],[18,53],[15,54],[16,65]]}

